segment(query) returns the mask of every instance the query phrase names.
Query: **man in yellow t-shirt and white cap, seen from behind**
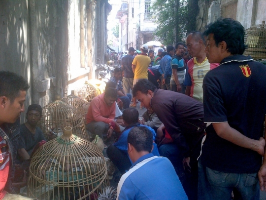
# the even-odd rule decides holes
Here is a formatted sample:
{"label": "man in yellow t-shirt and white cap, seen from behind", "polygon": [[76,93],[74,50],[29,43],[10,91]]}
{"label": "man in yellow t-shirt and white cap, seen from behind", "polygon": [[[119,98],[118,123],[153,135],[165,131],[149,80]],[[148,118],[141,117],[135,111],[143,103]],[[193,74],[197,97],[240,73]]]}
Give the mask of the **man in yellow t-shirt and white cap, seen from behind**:
{"label": "man in yellow t-shirt and white cap, seen from behind", "polygon": [[[132,62],[132,70],[134,73],[133,85],[140,79],[148,79],[148,67],[151,63],[151,59],[147,56],[149,50],[147,44],[143,44],[140,50],[141,54],[134,57]],[[136,107],[136,98],[133,98],[133,104],[130,106]],[[142,105],[140,105],[140,108],[142,108]]]}

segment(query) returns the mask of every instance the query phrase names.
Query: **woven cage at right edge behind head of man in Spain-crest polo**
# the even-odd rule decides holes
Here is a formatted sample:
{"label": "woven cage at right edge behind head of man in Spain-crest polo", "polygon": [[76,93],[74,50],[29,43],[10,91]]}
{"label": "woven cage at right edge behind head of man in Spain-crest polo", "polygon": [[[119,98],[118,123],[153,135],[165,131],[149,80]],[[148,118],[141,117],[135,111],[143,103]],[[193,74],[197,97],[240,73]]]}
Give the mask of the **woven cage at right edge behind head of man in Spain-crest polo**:
{"label": "woven cage at right edge behind head of man in Spain-crest polo", "polygon": [[248,48],[245,50],[244,55],[250,55],[254,59],[266,59],[265,21],[246,30],[245,43]]}

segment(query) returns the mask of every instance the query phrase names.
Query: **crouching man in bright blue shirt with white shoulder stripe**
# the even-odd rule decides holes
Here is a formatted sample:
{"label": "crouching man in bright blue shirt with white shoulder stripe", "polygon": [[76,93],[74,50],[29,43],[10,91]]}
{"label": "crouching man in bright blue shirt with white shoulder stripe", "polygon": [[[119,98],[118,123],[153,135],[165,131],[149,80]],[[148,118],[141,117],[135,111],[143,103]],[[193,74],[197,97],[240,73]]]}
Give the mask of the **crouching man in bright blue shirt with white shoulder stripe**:
{"label": "crouching man in bright blue shirt with white shoulder stripe", "polygon": [[117,200],[188,200],[171,162],[151,154],[153,135],[147,127],[132,128],[127,143],[133,165],[118,183]]}

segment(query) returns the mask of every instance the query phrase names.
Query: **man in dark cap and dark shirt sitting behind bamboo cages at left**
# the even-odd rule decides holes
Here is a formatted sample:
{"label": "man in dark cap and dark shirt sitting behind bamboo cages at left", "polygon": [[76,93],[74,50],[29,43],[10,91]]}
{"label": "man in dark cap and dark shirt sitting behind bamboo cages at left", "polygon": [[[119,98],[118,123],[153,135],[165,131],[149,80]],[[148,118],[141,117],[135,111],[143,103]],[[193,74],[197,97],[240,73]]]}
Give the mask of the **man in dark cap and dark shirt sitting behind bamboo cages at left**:
{"label": "man in dark cap and dark shirt sitting behind bamboo cages at left", "polygon": [[[20,126],[20,140],[18,143],[18,159],[25,161],[30,159],[34,147],[38,142],[45,140],[43,132],[37,127],[38,121],[41,119],[42,109],[38,104],[32,104],[28,107],[26,114],[26,123]],[[55,138],[53,133],[47,133],[49,140]]]}

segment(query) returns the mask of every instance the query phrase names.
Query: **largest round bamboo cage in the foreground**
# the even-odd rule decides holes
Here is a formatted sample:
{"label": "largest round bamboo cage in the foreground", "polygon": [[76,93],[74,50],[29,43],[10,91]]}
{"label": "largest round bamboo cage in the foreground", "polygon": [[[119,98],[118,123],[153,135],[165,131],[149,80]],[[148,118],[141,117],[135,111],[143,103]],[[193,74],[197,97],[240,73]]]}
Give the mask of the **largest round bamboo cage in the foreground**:
{"label": "largest round bamboo cage in the foreground", "polygon": [[33,155],[28,197],[38,200],[97,200],[109,186],[100,149],[89,141],[64,134],[42,145]]}

